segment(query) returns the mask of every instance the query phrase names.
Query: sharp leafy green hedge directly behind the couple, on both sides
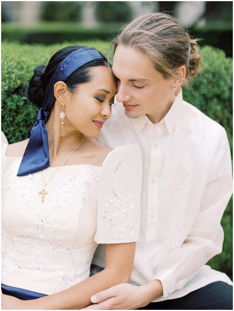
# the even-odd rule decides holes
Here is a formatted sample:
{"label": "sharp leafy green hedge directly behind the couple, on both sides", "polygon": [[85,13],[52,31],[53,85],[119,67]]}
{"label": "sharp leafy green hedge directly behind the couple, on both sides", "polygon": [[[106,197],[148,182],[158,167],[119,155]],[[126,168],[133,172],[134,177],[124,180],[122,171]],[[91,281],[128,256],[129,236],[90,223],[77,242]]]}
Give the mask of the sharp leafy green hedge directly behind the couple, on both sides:
{"label": "sharp leafy green hedge directly behind the couple, on both sides", "polygon": [[[28,137],[35,122],[37,110],[26,100],[25,90],[36,65],[48,63],[49,58],[66,45],[93,46],[107,55],[109,43],[86,41],[50,46],[2,43],[2,131],[9,143]],[[203,72],[196,78],[192,89],[183,88],[184,99],[227,131],[232,148],[232,59],[222,50],[210,46],[202,48]],[[223,252],[209,261],[212,268],[232,278],[232,200],[222,217],[225,237]]]}

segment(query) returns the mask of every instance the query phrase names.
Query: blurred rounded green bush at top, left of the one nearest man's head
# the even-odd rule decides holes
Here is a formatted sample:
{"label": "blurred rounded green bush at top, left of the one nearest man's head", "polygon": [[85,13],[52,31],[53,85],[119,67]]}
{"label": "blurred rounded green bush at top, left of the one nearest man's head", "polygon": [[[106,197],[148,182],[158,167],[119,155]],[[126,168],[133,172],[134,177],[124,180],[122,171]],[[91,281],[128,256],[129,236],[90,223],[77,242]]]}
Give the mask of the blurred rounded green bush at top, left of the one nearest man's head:
{"label": "blurred rounded green bush at top, left of the one nearest man's head", "polygon": [[44,21],[81,21],[82,1],[46,1],[42,13]]}

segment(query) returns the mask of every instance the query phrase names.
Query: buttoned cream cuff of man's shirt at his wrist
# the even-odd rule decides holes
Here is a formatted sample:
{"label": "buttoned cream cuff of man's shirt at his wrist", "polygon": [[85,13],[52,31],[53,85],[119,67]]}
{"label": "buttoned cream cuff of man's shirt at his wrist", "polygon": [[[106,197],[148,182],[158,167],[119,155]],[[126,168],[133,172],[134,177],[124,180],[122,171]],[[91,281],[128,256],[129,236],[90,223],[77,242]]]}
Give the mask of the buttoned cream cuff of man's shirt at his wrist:
{"label": "buttoned cream cuff of man's shirt at his wrist", "polygon": [[172,270],[162,270],[158,272],[153,280],[160,280],[162,283],[163,296],[171,295],[175,290],[175,276]]}

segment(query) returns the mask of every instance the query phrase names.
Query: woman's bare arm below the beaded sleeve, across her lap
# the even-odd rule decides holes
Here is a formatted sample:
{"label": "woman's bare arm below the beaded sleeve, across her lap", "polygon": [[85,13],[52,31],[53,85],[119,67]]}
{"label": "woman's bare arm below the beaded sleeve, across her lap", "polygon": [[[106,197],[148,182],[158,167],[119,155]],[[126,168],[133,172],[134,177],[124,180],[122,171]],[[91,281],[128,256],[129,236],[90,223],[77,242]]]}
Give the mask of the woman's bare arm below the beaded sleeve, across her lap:
{"label": "woman's bare arm below the beaded sleeve, across her lap", "polygon": [[84,308],[91,304],[92,295],[120,283],[129,283],[135,244],[106,244],[103,271],[66,290],[34,300],[24,301],[2,295],[2,309],[77,310]]}

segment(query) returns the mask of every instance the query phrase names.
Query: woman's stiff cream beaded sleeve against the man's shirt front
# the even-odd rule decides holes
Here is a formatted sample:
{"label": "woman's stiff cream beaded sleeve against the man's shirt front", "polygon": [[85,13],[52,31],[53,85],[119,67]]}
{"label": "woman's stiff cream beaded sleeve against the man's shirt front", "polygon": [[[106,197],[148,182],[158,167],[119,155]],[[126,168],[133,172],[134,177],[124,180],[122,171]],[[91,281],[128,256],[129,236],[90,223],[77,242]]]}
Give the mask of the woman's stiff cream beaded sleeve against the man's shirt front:
{"label": "woman's stiff cream beaded sleeve against the man's shirt front", "polygon": [[140,230],[142,156],[139,146],[115,148],[106,157],[98,185],[98,244],[135,242]]}

